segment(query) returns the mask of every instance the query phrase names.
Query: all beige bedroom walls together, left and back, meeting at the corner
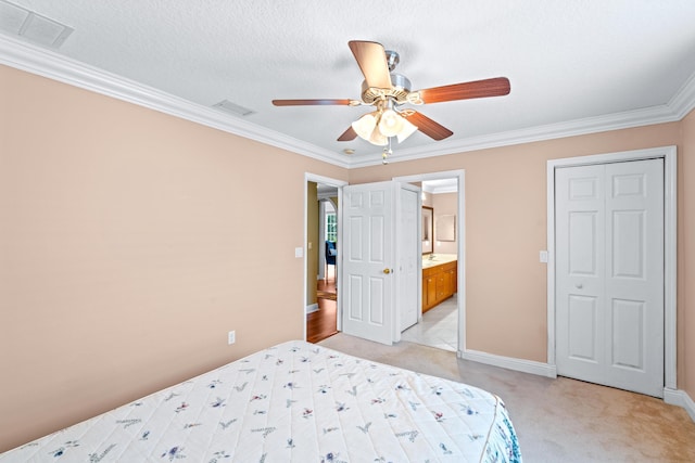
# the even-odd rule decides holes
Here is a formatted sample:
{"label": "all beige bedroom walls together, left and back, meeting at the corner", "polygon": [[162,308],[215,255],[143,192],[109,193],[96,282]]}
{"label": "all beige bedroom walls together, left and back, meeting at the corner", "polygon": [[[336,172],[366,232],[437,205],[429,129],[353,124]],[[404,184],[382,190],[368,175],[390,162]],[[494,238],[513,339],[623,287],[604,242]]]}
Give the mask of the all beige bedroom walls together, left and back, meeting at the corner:
{"label": "all beige bedroom walls together, left and back, meeting at the corner", "polygon": [[546,160],[678,144],[678,373],[695,398],[692,114],[346,171],[9,67],[0,88],[0,451],[302,337],[305,171],[466,169],[468,348],[544,362]]}

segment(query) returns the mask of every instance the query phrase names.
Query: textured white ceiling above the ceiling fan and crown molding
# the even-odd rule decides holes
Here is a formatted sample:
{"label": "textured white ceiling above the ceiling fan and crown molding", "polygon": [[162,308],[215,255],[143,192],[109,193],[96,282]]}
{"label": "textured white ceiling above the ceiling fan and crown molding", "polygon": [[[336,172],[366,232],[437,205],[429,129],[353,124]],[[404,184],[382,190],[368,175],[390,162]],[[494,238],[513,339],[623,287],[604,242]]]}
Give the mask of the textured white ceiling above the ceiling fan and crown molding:
{"label": "textured white ceiling above the ceiling fan and crown molding", "polygon": [[[276,107],[273,99],[358,99],[349,40],[401,55],[414,89],[506,76],[507,97],[429,104],[454,131],[394,146],[456,151],[467,140],[568,124],[672,101],[695,74],[693,0],[11,0],[74,29],[61,55],[211,107],[317,150],[379,147],[336,139],[365,107]],[[240,116],[227,116],[239,118]]]}

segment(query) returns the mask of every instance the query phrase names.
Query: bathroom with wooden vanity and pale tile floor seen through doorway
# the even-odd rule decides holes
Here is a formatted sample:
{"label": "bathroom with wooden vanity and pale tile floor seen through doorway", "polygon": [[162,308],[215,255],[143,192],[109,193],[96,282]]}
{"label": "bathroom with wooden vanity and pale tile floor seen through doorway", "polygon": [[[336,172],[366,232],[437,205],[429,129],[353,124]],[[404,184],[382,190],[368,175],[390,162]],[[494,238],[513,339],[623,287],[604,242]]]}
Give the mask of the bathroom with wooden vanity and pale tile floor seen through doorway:
{"label": "bathroom with wooden vanity and pale tile floor seen through doorway", "polygon": [[422,188],[422,318],[402,340],[458,350],[458,185],[427,180]]}

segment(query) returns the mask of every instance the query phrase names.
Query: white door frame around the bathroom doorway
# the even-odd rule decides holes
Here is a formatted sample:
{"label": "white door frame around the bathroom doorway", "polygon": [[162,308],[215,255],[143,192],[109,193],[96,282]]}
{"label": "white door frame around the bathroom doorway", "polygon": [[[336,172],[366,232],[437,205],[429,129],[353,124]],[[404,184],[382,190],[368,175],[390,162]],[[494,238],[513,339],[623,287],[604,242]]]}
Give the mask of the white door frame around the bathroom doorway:
{"label": "white door frame around the bathroom doorway", "polygon": [[[457,190],[457,214],[456,234],[458,235],[457,252],[457,293],[456,304],[458,306],[458,344],[456,356],[463,358],[466,351],[466,170],[444,170],[430,173],[416,173],[413,176],[393,177],[393,180],[403,183],[421,182],[425,180],[443,180],[455,178],[458,182]],[[422,262],[419,263],[420,275]],[[421,290],[420,290],[421,291]],[[420,304],[420,319],[422,318]],[[419,320],[418,320],[419,321]]]}

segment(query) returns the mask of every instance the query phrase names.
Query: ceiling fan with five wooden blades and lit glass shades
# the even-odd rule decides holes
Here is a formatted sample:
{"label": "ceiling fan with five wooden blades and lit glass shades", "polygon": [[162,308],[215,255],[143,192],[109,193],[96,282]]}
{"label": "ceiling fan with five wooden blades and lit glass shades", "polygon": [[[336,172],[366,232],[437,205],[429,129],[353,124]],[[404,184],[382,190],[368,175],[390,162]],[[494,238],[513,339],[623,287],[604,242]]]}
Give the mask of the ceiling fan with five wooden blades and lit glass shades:
{"label": "ceiling fan with five wooden blades and lit glass shades", "polygon": [[415,110],[401,108],[402,105],[501,97],[510,91],[509,79],[506,77],[412,91],[410,81],[405,76],[393,73],[400,61],[396,52],[384,50],[381,43],[371,41],[351,40],[348,44],[365,76],[362,83],[362,100],[273,100],[273,104],[276,106],[375,106],[376,111],[352,123],[338,141],[351,141],[359,137],[379,146],[389,145],[388,150],[384,147],[384,162],[387,154],[390,153],[390,142],[393,137],[402,142],[419,130],[439,141],[454,133]]}

